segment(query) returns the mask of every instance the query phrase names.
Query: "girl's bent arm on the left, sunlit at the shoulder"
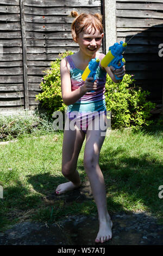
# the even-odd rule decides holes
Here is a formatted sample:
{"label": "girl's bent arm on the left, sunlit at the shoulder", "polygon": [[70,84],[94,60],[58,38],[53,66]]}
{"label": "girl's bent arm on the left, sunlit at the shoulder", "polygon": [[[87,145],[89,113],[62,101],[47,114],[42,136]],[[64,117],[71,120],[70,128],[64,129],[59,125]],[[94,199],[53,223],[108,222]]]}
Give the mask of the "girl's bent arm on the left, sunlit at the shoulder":
{"label": "girl's bent arm on the left, sunlit at the shoulder", "polygon": [[77,102],[86,92],[97,89],[97,83],[92,83],[92,77],[86,78],[83,86],[71,91],[71,78],[70,67],[66,59],[62,59],[60,62],[60,77],[61,77],[61,91],[62,100],[68,106]]}

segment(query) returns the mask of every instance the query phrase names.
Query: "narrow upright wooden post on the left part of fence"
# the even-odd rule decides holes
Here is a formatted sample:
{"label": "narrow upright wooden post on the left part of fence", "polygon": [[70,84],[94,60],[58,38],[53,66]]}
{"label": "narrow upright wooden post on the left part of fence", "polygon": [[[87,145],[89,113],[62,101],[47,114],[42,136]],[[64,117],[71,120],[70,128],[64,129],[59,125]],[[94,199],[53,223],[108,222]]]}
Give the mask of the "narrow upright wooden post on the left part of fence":
{"label": "narrow upright wooden post on the left part of fence", "polygon": [[24,21],[24,0],[20,0],[20,20],[21,20],[22,51],[23,51],[24,107],[28,110],[29,95],[28,95],[28,74],[27,74],[26,26]]}

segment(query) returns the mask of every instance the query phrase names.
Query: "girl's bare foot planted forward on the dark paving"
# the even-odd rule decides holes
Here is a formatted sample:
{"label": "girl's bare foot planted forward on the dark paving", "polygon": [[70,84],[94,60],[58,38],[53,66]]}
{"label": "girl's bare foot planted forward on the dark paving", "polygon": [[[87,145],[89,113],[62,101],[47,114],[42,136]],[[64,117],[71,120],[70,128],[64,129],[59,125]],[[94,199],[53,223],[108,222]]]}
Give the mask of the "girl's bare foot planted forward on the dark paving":
{"label": "girl's bare foot planted forward on the dark paving", "polygon": [[110,218],[108,218],[108,220],[106,221],[99,222],[99,231],[98,231],[95,242],[103,243],[105,241],[110,240],[112,237],[111,229],[112,229],[112,221],[110,220]]}

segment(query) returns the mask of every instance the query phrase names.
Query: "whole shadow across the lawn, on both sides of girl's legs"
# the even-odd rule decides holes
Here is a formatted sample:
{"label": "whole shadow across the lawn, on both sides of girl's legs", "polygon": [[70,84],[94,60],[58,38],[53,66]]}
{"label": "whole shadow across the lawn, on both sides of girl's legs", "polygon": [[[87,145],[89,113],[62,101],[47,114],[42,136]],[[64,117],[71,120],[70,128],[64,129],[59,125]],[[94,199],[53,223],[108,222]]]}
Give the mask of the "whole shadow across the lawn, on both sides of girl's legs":
{"label": "whole shadow across the lawn, on both sides of girl's legs", "polygon": [[[157,135],[160,134],[158,132],[162,132],[162,129],[157,131]],[[152,135],[155,134],[153,129]],[[159,186],[163,185],[161,162],[147,153],[131,157],[126,150],[124,155],[124,150],[126,149],[121,145],[116,150],[110,146],[106,150],[102,149],[99,158],[109,213],[129,213],[133,209],[145,208],[153,215],[161,217],[163,199],[158,196]],[[123,156],[118,156],[121,153]],[[4,199],[0,200],[0,212],[3,215],[0,227],[19,222],[21,218],[51,223],[68,215],[97,215],[82,160],[79,160],[78,168],[82,170],[82,186],[60,196],[55,193],[55,188],[67,180],[62,174],[55,176],[50,172],[27,176],[33,190],[25,187],[19,180],[16,185],[5,188]],[[29,216],[26,215],[28,211]]]}

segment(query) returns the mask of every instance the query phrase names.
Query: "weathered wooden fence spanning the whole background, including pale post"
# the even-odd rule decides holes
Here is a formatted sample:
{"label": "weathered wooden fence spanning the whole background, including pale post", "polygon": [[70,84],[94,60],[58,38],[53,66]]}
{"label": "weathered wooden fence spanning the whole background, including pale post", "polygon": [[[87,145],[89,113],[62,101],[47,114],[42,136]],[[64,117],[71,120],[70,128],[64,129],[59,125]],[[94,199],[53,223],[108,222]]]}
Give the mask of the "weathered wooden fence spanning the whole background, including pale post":
{"label": "weathered wooden fence spanning the whole background, including pale post", "polygon": [[[43,70],[58,54],[78,51],[72,40],[71,10],[101,13],[105,36],[101,52],[121,40],[126,72],[149,90],[148,97],[162,102],[163,0],[3,0],[0,3],[0,113],[34,111],[39,102]],[[163,53],[163,51],[162,51]]]}

